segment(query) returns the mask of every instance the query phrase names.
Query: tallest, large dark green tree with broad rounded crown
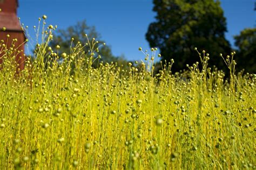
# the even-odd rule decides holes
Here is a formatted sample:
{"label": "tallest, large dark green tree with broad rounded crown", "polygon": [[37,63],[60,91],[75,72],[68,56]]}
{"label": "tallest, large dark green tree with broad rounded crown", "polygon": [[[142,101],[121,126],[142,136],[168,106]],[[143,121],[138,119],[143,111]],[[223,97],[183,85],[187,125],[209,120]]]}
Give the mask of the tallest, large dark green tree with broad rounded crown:
{"label": "tallest, large dark green tree with broad rounded crown", "polygon": [[160,49],[162,60],[176,62],[173,70],[199,60],[197,47],[210,54],[210,65],[225,68],[220,53],[230,54],[225,39],[226,19],[219,1],[153,0],[156,22],[149,25],[146,39],[151,47]]}

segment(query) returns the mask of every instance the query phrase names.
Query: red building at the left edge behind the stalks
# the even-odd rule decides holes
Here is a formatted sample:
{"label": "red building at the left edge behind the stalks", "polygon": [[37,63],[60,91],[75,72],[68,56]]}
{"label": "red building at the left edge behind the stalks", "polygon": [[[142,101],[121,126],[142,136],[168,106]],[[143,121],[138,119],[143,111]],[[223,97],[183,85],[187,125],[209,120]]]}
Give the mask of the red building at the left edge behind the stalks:
{"label": "red building at the left edge behind the stalks", "polygon": [[[0,40],[4,40],[4,44],[9,48],[11,46],[12,40],[17,39],[15,42],[15,47],[17,48],[21,44],[17,51],[22,51],[20,53],[16,53],[16,61],[19,64],[19,69],[24,69],[25,65],[25,56],[24,56],[24,41],[25,34],[22,30],[22,26],[19,24],[19,20],[17,17],[17,8],[18,8],[18,0],[0,0]],[[3,27],[5,29],[3,29]],[[5,31],[3,31],[5,30]],[[9,38],[7,41],[7,35],[9,34]],[[1,52],[1,48],[0,48]],[[3,62],[2,60],[3,52],[0,54],[0,64]]]}

